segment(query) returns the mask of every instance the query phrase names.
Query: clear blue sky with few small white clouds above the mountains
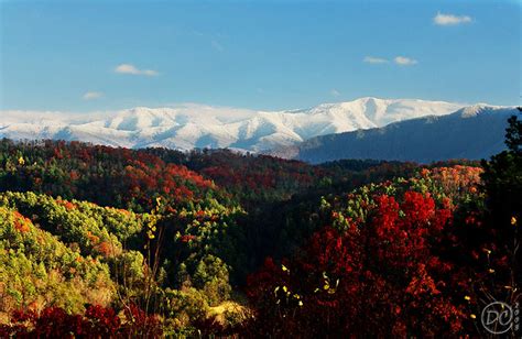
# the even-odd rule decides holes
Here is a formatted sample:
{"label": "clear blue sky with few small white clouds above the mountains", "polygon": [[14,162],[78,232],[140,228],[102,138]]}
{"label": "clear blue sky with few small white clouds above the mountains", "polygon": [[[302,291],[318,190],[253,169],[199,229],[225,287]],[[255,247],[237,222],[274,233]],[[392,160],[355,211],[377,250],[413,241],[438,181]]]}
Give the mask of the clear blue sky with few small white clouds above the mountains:
{"label": "clear blue sky with few small white clouds above the mountains", "polygon": [[0,6],[3,110],[272,110],[366,96],[520,103],[518,1]]}

